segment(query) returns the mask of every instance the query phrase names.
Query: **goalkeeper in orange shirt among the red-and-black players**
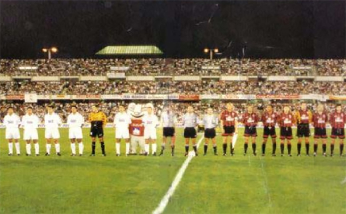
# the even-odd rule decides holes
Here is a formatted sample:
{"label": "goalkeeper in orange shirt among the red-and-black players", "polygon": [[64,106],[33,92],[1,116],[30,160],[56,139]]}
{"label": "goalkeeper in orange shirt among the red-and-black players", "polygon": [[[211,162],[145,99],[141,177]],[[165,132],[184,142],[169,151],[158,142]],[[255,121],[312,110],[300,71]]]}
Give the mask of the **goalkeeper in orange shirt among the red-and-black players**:
{"label": "goalkeeper in orange shirt among the red-and-black players", "polygon": [[306,155],[309,156],[309,137],[310,137],[310,127],[309,124],[312,122],[312,113],[306,108],[306,102],[301,102],[300,110],[296,111],[296,121],[297,121],[297,137],[298,137],[298,154],[300,156],[300,150],[302,148],[302,138],[305,140]]}

